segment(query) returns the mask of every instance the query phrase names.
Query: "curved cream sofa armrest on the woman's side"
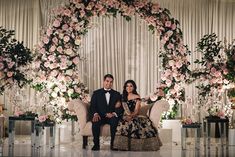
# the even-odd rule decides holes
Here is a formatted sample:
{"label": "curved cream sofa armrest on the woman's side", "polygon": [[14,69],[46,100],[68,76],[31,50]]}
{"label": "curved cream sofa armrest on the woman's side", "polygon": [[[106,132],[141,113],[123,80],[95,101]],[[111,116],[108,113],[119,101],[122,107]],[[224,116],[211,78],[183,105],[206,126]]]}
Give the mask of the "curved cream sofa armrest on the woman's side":
{"label": "curved cream sofa armrest on the woman's side", "polygon": [[153,107],[150,110],[149,118],[153,122],[155,127],[158,127],[162,113],[164,111],[168,111],[169,108],[170,105],[166,100],[159,100],[154,103]]}

